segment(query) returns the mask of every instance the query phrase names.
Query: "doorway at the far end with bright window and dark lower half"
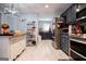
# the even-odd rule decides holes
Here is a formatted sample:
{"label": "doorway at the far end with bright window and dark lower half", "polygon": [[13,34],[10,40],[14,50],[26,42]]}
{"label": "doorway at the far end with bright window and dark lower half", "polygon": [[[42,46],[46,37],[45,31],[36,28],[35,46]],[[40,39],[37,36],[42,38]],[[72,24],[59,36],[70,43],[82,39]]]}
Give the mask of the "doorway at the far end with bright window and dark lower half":
{"label": "doorway at the far end with bright window and dark lower half", "polygon": [[39,35],[41,36],[41,40],[52,39],[51,21],[39,22]]}

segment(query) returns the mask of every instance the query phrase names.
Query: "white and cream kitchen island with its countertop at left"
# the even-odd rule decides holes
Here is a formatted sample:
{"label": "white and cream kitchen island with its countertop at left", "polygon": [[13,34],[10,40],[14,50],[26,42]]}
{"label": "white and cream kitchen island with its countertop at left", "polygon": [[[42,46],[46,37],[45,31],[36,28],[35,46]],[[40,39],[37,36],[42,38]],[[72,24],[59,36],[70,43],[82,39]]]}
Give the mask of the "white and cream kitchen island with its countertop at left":
{"label": "white and cream kitchen island with its countertop at left", "polygon": [[26,48],[26,34],[0,35],[0,61],[12,61]]}

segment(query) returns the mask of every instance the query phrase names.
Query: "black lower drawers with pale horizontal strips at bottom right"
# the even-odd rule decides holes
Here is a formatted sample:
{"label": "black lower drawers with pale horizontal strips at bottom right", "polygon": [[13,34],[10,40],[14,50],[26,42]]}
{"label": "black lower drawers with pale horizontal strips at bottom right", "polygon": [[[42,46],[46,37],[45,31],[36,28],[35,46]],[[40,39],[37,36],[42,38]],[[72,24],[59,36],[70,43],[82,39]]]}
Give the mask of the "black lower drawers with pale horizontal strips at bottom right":
{"label": "black lower drawers with pale horizontal strips at bottom right", "polygon": [[70,40],[70,42],[71,56],[76,61],[86,61],[86,44],[74,40]]}

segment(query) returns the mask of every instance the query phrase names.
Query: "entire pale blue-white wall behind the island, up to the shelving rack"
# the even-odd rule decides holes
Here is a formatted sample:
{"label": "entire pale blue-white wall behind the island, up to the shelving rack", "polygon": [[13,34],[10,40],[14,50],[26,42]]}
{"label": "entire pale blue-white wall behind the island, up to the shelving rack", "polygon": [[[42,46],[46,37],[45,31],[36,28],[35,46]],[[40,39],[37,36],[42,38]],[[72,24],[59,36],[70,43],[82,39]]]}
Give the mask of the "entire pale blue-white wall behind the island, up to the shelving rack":
{"label": "entire pale blue-white wall behind the island, up to the shelving rack", "polygon": [[[22,20],[25,21],[22,22]],[[20,14],[19,16],[5,14],[2,16],[1,24],[8,23],[11,30],[20,29],[22,31],[26,31],[26,24],[32,21],[37,21],[36,14]]]}

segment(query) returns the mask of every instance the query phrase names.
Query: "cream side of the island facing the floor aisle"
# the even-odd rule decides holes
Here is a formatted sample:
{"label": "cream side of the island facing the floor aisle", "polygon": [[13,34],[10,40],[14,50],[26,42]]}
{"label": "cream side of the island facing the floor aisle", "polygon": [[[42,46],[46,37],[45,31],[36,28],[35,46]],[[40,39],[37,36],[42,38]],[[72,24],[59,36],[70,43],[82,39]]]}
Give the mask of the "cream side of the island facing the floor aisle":
{"label": "cream side of the island facing the floor aisle", "polygon": [[15,37],[15,40],[10,40],[11,43],[14,41],[11,44],[10,60],[15,59],[26,48],[26,36]]}

